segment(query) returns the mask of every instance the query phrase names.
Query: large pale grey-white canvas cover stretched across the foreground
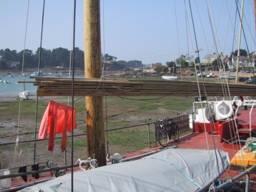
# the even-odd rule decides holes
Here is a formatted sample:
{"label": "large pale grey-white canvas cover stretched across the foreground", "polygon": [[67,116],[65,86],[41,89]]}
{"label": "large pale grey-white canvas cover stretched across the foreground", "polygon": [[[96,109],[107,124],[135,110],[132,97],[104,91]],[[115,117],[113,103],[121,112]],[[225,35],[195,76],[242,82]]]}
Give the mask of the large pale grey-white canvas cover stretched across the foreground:
{"label": "large pale grey-white canvas cover stretched across the foreground", "polygon": [[[139,160],[78,171],[73,174],[73,191],[196,191],[213,183],[228,166],[228,153],[221,150],[166,149]],[[21,191],[71,191],[71,174]]]}

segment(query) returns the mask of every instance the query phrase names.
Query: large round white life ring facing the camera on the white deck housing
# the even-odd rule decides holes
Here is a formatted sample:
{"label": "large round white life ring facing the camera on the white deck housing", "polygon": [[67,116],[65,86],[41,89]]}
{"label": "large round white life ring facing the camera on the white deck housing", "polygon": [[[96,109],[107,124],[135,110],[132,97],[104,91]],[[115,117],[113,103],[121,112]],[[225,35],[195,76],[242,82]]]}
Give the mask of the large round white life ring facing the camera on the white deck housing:
{"label": "large round white life ring facing the camera on the white deck housing", "polygon": [[[226,113],[226,109],[229,109],[229,111],[227,111]],[[218,115],[221,119],[227,119],[229,117],[231,117],[233,115],[233,106],[232,106],[232,102],[230,101],[219,101],[216,105],[215,105],[215,113],[216,115]]]}

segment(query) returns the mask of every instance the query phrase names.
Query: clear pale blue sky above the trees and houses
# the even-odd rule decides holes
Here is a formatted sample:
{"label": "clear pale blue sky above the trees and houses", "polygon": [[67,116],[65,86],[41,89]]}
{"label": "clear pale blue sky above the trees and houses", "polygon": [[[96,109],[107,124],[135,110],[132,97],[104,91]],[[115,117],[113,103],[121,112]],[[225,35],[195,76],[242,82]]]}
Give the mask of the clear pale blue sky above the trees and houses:
{"label": "clear pale blue sky above the trees and houses", "polygon": [[[231,51],[237,50],[239,23],[234,29],[235,1],[190,2],[198,48],[204,47],[200,51],[200,58],[219,51],[230,55]],[[83,1],[77,0],[76,3],[75,46],[84,50]],[[27,0],[0,0],[0,49],[23,50],[27,7]],[[33,52],[40,47],[42,7],[42,0],[29,1],[25,48]],[[71,0],[46,0],[43,48],[71,49],[72,9]],[[208,9],[212,13],[208,13]],[[185,13],[188,14],[188,22]],[[214,17],[213,28],[217,31],[215,43],[208,14]],[[252,52],[255,50],[253,0],[244,3],[244,20],[249,52]],[[117,60],[139,60],[144,64],[161,62],[165,65],[166,61],[174,61],[181,54],[194,55],[196,50],[188,0],[185,3],[182,0],[101,0],[101,38],[102,53],[115,56]],[[241,48],[247,50],[244,38]]]}

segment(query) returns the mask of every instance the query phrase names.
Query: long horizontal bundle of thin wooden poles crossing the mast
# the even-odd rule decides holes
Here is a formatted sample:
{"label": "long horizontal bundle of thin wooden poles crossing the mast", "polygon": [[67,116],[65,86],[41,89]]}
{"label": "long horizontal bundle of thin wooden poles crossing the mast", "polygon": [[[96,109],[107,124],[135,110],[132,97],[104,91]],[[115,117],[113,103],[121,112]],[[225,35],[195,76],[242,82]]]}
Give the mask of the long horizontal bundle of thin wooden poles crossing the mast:
{"label": "long horizontal bundle of thin wooden poles crossing the mast", "polygon": [[[32,77],[38,96],[255,96],[255,85],[195,81],[141,81],[105,78]],[[229,93],[228,93],[229,92]]]}

